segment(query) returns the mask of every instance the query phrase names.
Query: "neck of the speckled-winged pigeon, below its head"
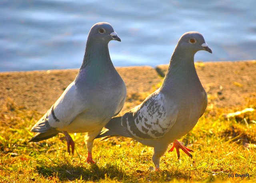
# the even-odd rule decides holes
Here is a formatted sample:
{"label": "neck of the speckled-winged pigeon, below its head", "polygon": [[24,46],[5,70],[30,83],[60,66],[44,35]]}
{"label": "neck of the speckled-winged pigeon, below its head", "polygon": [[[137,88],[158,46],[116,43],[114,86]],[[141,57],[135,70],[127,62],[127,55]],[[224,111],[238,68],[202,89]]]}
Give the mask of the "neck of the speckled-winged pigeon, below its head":
{"label": "neck of the speckled-winged pigeon, below its head", "polygon": [[188,83],[192,78],[198,78],[194,65],[194,55],[195,53],[188,53],[181,48],[178,48],[177,51],[177,47],[175,48],[162,88],[172,87],[173,82]]}

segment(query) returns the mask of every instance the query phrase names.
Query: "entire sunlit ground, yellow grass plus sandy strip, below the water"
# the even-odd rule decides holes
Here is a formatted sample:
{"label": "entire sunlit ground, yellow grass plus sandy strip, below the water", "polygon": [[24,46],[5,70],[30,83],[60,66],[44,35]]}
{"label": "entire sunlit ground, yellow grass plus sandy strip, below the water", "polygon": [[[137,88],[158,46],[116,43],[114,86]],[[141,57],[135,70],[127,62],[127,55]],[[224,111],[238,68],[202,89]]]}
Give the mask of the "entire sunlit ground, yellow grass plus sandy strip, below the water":
{"label": "entire sunlit ground, yellow grass plus sandy strip, below the water", "polygon": [[[28,143],[34,135],[31,127],[77,71],[0,73],[0,182],[255,182],[256,112],[226,118],[244,108],[256,109],[255,63],[198,65],[208,108],[194,129],[180,139],[194,150],[193,159],[181,152],[178,160],[175,152],[166,152],[158,172],[149,169],[154,166],[153,149],[130,138],[95,140],[94,165],[85,163],[84,134],[72,134],[74,155],[59,140],[62,134]],[[128,88],[120,114],[140,104],[161,84],[162,78],[152,67],[117,70]]]}

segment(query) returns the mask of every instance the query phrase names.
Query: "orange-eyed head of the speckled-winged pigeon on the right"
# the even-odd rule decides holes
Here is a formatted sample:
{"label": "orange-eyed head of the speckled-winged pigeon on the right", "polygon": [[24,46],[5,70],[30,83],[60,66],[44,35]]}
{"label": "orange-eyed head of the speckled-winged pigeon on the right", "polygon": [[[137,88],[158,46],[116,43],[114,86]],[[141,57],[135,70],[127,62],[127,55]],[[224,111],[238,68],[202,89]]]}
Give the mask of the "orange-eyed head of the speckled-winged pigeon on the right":
{"label": "orange-eyed head of the speckled-winged pigeon on the right", "polygon": [[196,53],[200,50],[205,50],[212,53],[212,49],[204,41],[204,37],[199,32],[186,32],[184,33],[178,42],[178,46],[185,48],[186,51]]}

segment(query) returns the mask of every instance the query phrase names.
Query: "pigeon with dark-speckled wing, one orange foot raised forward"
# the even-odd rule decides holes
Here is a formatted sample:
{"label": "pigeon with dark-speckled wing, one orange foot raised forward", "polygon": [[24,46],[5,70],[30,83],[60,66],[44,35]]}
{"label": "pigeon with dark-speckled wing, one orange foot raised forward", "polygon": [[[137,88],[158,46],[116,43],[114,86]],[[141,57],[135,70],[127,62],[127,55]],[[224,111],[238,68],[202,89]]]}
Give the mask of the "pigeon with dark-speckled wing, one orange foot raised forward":
{"label": "pigeon with dark-speckled wing, one orange foot raised forward", "polygon": [[178,41],[170,60],[170,66],[162,86],[150,94],[142,104],[115,117],[106,124],[97,138],[110,136],[130,137],[146,146],[154,147],[152,161],[159,169],[160,157],[168,145],[170,151],[179,148],[190,157],[192,150],[183,146],[177,138],[187,134],[204,114],[207,94],[196,73],[194,55],[197,51],[212,53],[198,32],[187,32]]}

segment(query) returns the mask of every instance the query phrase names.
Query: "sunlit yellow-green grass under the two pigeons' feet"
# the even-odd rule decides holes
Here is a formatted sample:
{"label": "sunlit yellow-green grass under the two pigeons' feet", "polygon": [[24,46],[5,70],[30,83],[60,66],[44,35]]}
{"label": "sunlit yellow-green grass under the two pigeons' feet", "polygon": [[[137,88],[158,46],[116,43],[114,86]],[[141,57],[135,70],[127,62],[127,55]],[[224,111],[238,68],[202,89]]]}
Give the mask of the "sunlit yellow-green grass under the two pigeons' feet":
{"label": "sunlit yellow-green grass under the two pigeons' feet", "polygon": [[[144,96],[132,94],[126,108],[143,99]],[[256,108],[256,102],[248,107]],[[227,120],[222,113],[233,110],[209,106],[194,129],[180,139],[194,150],[193,158],[181,152],[178,160],[175,152],[166,152],[161,159],[161,171],[156,172],[149,169],[154,166],[153,148],[129,138],[95,140],[96,164],[90,165],[85,163],[84,134],[72,134],[75,153],[69,155],[66,142],[59,140],[62,134],[39,143],[28,143],[34,135],[30,129],[41,116],[38,112],[16,106],[10,99],[1,112],[0,182],[256,181],[256,124],[253,122],[256,115],[252,113]],[[229,178],[233,173],[248,173],[250,177]]]}

